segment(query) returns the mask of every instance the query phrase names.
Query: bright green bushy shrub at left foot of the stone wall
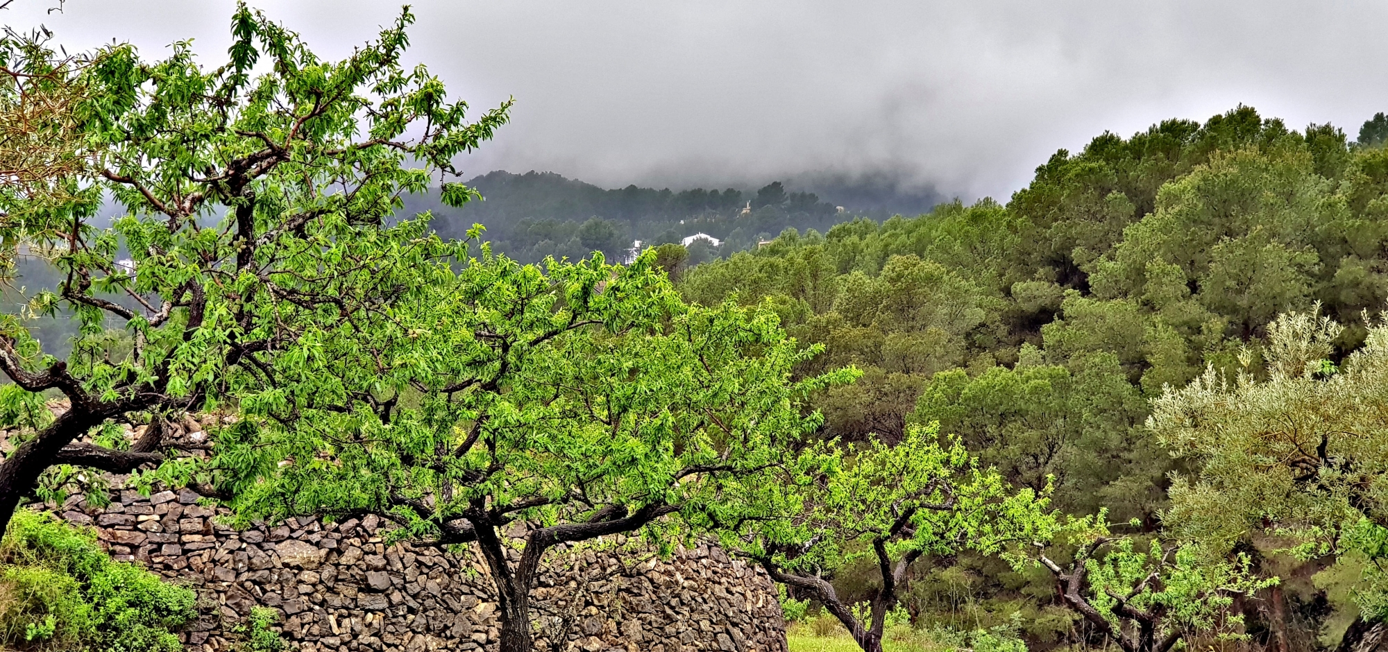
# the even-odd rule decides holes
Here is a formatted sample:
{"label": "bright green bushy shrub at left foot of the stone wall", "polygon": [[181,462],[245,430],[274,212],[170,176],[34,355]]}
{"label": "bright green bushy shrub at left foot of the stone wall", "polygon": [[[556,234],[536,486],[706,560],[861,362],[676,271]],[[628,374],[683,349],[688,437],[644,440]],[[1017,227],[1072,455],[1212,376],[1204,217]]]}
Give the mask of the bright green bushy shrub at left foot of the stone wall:
{"label": "bright green bushy shrub at left foot of the stone wall", "polygon": [[15,512],[0,541],[0,649],[179,651],[194,599],[49,513]]}

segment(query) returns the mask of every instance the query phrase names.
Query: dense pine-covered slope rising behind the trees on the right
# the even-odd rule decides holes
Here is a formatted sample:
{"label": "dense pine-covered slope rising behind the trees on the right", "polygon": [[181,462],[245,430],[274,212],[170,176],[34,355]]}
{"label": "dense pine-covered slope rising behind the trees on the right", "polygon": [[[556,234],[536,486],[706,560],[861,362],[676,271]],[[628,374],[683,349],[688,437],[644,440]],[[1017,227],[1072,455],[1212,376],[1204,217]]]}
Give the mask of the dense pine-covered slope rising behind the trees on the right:
{"label": "dense pine-covered slope rising behind the trees on the right", "polygon": [[[801,373],[863,369],[815,400],[826,434],[895,441],[938,422],[1009,480],[1053,483],[1063,511],[1108,508],[1151,531],[1190,463],[1145,424],[1163,387],[1208,366],[1259,369],[1269,323],[1316,305],[1345,325],[1337,361],[1363,341],[1360,315],[1388,307],[1388,150],[1373,146],[1373,121],[1364,133],[1295,130],[1249,107],[1105,133],[1058,151],[1006,204],[786,230],[682,271],[680,289],[772,305],[801,341],[826,345]],[[1048,578],[980,563],[923,569],[912,612],[958,619],[969,603],[1002,617],[1029,603],[1034,641],[1070,631]],[[1324,597],[1312,605],[1303,584],[1305,613],[1287,619],[1316,621]]]}

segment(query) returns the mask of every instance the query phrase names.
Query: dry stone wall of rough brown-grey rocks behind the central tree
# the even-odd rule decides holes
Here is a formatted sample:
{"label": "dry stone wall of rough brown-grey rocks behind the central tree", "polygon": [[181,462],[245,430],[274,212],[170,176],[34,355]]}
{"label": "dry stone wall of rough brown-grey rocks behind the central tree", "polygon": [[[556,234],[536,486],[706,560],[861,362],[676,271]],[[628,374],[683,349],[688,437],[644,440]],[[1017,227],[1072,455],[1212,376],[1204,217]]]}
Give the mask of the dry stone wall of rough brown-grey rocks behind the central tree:
{"label": "dry stone wall of rough brown-grey rocks behind the central tree", "polygon": [[[496,597],[479,556],[386,547],[373,516],[235,531],[198,498],[126,490],[105,508],[74,497],[57,512],[97,527],[114,558],[198,591],[203,615],[180,635],[190,651],[237,649],[254,606],[275,609],[282,637],[303,652],[496,649]],[[558,549],[547,562],[533,591],[537,651],[786,652],[775,585],[716,547],[672,559]]]}

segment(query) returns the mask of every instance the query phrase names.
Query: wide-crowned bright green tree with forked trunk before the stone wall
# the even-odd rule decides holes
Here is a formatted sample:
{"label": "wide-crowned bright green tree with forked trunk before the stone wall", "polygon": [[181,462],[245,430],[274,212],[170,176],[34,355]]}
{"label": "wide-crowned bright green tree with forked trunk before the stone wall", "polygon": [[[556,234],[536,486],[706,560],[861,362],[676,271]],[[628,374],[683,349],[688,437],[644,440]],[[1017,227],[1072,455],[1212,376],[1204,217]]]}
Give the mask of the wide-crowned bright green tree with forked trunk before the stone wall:
{"label": "wide-crowned bright green tree with forked trunk before the stone wall", "polygon": [[214,473],[243,517],[376,513],[394,540],[475,542],[500,649],[529,652],[550,548],[762,513],[743,487],[802,463],[805,398],[851,373],[793,381],[818,350],[770,311],[686,307],[651,251],[543,269],[482,251],[353,351],[323,333],[333,390],[243,395]]}

